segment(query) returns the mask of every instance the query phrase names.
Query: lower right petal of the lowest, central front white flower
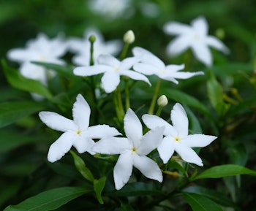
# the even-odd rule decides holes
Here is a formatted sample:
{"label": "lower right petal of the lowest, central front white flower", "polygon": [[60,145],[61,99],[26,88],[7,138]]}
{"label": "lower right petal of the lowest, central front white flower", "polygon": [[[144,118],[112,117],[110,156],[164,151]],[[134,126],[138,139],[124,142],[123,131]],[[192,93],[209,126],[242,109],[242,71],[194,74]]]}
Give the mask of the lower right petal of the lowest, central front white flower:
{"label": "lower right petal of the lowest, central front white flower", "polygon": [[162,183],[162,172],[157,163],[146,156],[133,156],[133,165],[149,179]]}

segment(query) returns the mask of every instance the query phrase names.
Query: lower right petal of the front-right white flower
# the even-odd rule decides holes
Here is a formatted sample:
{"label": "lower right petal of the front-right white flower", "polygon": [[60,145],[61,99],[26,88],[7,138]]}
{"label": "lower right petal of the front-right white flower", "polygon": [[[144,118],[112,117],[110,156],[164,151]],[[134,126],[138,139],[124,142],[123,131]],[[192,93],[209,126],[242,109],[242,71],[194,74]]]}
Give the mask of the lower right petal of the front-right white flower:
{"label": "lower right petal of the front-right white flower", "polygon": [[203,166],[203,162],[199,156],[197,156],[197,153],[195,153],[194,150],[187,147],[187,145],[183,145],[181,142],[177,142],[175,145],[176,153],[178,153],[179,156],[181,156],[182,160],[196,164],[197,166]]}

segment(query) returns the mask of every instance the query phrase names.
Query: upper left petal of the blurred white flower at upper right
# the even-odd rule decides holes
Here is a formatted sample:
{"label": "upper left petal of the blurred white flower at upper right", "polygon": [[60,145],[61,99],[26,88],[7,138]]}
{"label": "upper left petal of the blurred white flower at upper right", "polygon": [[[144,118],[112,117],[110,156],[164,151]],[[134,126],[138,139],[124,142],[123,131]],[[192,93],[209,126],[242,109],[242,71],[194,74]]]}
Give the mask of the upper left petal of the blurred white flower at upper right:
{"label": "upper left petal of the blurred white flower at upper right", "polygon": [[166,34],[176,35],[176,34],[187,34],[191,31],[191,28],[186,24],[178,23],[176,21],[171,21],[171,22],[165,23],[163,30],[165,31]]}

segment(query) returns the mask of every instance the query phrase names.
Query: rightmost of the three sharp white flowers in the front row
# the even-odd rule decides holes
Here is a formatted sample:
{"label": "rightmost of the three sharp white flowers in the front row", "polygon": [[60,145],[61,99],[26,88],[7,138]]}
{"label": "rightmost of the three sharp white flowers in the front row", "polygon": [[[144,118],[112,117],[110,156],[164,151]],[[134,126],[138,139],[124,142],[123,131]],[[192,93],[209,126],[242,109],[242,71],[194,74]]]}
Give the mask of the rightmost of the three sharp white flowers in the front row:
{"label": "rightmost of the three sharp white flowers in the front row", "polygon": [[159,156],[165,164],[173,156],[174,151],[176,151],[184,161],[203,166],[201,158],[192,150],[192,147],[206,147],[214,139],[217,139],[217,137],[204,134],[189,135],[187,114],[181,104],[178,103],[173,106],[173,110],[170,112],[173,126],[156,115],[143,115],[142,119],[146,126],[151,129],[165,126],[165,137],[157,148]]}

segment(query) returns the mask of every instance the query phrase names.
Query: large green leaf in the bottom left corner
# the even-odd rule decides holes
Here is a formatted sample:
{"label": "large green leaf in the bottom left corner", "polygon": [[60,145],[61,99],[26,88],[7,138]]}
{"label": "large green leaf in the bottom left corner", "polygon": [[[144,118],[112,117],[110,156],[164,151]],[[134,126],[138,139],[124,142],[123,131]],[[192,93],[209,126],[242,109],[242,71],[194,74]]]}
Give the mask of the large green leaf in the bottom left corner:
{"label": "large green leaf in the bottom left corner", "polygon": [[45,191],[26,199],[20,204],[10,205],[4,211],[48,211],[56,210],[72,199],[78,198],[91,190],[80,187],[63,187]]}

